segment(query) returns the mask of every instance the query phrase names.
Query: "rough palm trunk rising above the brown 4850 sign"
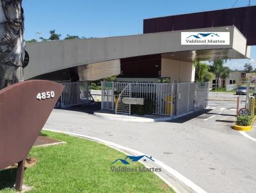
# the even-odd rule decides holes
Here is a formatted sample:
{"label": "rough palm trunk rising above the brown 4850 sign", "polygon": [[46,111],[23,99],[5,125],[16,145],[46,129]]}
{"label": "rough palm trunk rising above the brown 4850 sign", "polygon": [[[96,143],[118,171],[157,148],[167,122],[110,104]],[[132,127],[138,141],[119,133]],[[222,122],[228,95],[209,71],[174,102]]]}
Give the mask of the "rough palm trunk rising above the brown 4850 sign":
{"label": "rough palm trunk rising above the brown 4850 sign", "polygon": [[22,80],[24,15],[22,0],[0,0],[0,89]]}

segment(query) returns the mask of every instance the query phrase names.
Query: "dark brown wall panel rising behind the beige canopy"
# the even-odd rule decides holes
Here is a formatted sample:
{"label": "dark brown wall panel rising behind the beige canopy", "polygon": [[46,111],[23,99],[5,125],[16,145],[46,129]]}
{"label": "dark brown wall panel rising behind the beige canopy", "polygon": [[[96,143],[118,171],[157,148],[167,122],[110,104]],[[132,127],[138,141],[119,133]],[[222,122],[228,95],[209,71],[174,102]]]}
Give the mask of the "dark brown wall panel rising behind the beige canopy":
{"label": "dark brown wall panel rising behind the beige canopy", "polygon": [[256,6],[145,19],[143,33],[233,25],[247,38],[248,45],[256,45]]}

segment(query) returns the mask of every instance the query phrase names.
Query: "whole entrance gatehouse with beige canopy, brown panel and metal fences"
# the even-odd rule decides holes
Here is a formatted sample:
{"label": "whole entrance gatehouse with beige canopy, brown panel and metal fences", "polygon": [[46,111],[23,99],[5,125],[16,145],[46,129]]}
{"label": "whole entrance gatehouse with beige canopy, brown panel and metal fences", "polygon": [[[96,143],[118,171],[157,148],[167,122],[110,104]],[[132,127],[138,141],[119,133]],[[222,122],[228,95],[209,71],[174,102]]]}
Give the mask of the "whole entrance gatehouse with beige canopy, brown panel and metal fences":
{"label": "whole entrance gatehouse with beige canopy, brown panel and metal fences", "polygon": [[[24,76],[77,85],[118,75],[119,83],[102,84],[102,109],[131,114],[134,106],[147,104],[150,113],[181,116],[207,105],[208,84],[193,82],[193,61],[250,58],[250,45],[256,43],[253,16],[256,6],[146,19],[143,35],[28,43],[30,64]],[[194,43],[186,43],[186,34]],[[226,42],[195,43],[196,35],[210,35],[211,41],[225,35]],[[159,83],[163,78],[170,83]],[[63,106],[90,96],[74,85],[66,86]],[[143,105],[134,98],[143,98]]]}

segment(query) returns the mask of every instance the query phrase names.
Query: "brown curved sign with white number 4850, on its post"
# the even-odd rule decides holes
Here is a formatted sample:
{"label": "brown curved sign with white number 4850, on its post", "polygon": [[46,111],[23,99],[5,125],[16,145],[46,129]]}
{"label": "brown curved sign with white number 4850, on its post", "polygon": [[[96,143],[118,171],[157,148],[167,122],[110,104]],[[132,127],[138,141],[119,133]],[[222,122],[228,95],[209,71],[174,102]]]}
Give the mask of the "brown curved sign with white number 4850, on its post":
{"label": "brown curved sign with white number 4850, on its post", "polygon": [[63,88],[52,81],[25,81],[0,90],[0,170],[19,163],[18,190],[22,189],[24,160]]}

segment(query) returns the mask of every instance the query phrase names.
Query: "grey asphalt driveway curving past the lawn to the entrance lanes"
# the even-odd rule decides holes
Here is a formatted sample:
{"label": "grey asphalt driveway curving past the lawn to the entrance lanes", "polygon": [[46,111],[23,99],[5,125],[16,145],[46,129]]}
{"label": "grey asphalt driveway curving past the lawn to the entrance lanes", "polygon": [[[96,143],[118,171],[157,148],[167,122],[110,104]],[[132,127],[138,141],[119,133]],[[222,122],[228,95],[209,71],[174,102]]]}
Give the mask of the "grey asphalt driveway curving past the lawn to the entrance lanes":
{"label": "grey asphalt driveway curving past the lawn to the entrance lanes", "polygon": [[[236,120],[236,97],[210,93],[209,109],[157,123],[110,121],[54,109],[44,128],[98,137],[141,151],[206,192],[255,192],[256,142],[231,128]],[[254,130],[247,134],[256,137]]]}

